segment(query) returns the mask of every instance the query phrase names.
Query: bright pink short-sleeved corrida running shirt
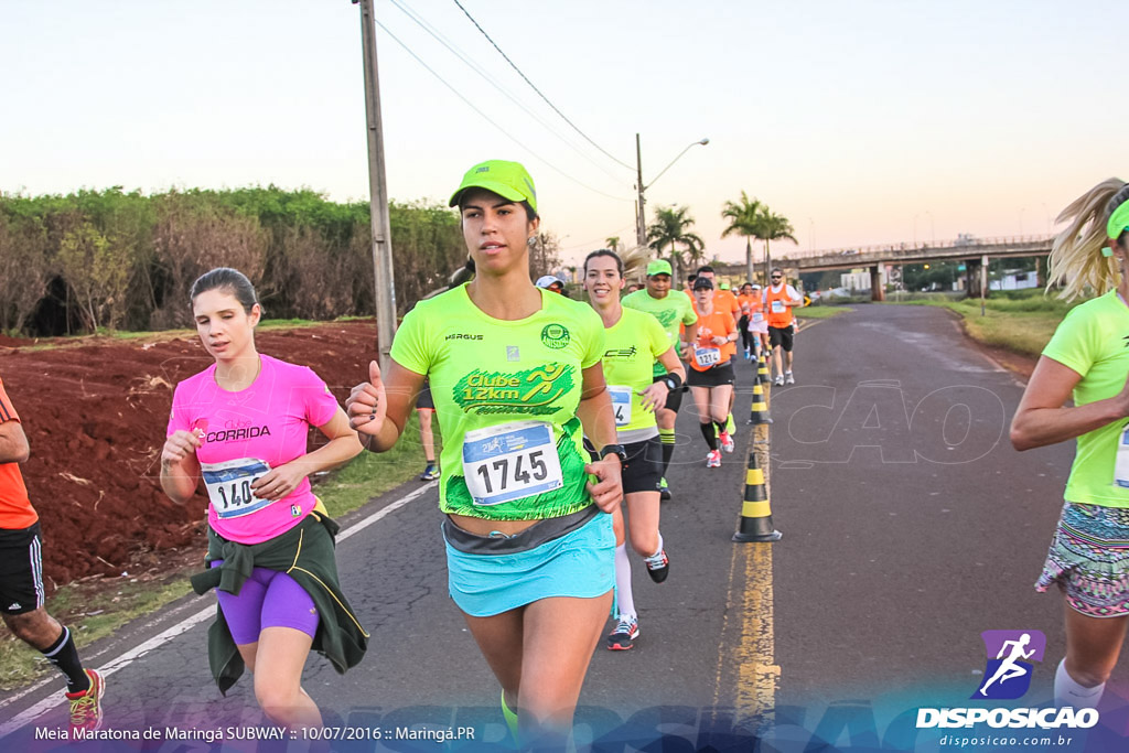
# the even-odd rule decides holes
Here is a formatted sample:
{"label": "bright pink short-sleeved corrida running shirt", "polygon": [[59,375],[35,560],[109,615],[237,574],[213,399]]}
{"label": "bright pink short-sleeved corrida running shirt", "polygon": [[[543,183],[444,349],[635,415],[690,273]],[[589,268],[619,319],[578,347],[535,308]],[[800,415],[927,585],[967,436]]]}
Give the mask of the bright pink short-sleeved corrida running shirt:
{"label": "bright pink short-sleeved corrida running shirt", "polygon": [[[336,399],[309,368],[270,356],[259,358],[262,370],[240,392],[227,392],[216,384],[215,364],[181,382],[168,417],[168,435],[199,430],[196,459],[201,465],[245,461],[231,470],[205,469],[203,473],[205,485],[213,487],[209,488],[213,501],[208,506],[208,525],[224,539],[240,544],[257,544],[289,531],[316,500],[309,479],[303,479],[297,489],[271,504],[240,496],[239,480],[250,476],[239,474],[246,469],[265,470],[263,462],[275,469],[301,457],[309,427],[325,426],[338,412]],[[235,504],[221,517],[217,507],[227,509],[229,494]]]}

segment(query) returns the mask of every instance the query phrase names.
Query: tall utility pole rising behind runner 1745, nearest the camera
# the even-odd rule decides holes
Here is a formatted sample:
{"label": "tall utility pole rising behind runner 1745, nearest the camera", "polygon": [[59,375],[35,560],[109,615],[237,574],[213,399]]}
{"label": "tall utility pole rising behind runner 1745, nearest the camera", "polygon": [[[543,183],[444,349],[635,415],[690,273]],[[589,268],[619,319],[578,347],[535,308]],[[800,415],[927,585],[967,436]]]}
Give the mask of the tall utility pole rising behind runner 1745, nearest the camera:
{"label": "tall utility pole rising behind runner 1745, nearest the camera", "polygon": [[384,178],[384,126],[380,122],[380,82],[376,70],[376,19],[373,0],[360,5],[360,36],[365,58],[365,114],[368,119],[368,187],[373,228],[373,268],[376,274],[376,332],[380,371],[387,374],[392,338],[396,333],[396,289],[392,279],[392,224],[388,186]]}

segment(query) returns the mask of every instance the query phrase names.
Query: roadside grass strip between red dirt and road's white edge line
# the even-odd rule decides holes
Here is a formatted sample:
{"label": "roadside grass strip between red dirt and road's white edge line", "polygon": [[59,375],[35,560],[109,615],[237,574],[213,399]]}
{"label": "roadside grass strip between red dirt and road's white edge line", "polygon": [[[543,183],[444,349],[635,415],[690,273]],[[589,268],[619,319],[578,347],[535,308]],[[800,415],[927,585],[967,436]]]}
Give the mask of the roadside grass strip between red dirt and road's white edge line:
{"label": "roadside grass strip between red dirt and road's white edge line", "polygon": [[[412,411],[415,413],[415,411]],[[441,452],[439,423],[432,420],[436,453]],[[361,453],[344,467],[316,480],[314,491],[331,517],[338,518],[369,499],[395,489],[423,471],[423,445],[419,419],[410,417],[400,441],[387,453]],[[202,553],[201,553],[202,554]],[[189,576],[200,570],[194,561],[184,570],[160,579],[94,579],[63,586],[46,604],[47,613],[67,624],[81,650],[112,636],[125,623],[143,618],[191,592]],[[43,656],[5,631],[0,637],[0,690],[15,690],[55,672]]]}

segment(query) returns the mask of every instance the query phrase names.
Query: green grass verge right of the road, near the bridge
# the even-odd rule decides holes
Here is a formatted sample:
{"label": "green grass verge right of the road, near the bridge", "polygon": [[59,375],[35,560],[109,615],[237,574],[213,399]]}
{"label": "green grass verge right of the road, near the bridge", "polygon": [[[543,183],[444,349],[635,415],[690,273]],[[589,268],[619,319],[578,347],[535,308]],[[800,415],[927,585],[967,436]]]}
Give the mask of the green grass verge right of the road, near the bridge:
{"label": "green grass verge right of the road, near the bridge", "polygon": [[978,342],[1006,348],[1016,353],[1039,356],[1062,317],[1084,301],[1066,303],[1043,296],[1041,290],[992,291],[991,297],[984,300],[982,315],[979,298],[914,297],[905,301],[889,299],[886,303],[948,308],[961,315],[969,335]]}

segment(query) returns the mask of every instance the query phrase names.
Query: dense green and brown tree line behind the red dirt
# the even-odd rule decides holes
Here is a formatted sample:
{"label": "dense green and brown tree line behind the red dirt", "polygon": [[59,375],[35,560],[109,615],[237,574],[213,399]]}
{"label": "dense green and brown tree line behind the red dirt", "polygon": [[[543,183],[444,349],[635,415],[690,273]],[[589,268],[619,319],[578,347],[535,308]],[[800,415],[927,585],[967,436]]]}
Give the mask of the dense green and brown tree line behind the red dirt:
{"label": "dense green and brown tree line behind the red dirt", "polygon": [[[392,202],[393,273],[403,316],[463,266],[458,213]],[[67,195],[0,193],[0,332],[50,336],[192,326],[189,289],[215,266],[251,279],[271,318],[375,312],[368,202],[245,187]],[[551,235],[531,264],[559,263]]]}

